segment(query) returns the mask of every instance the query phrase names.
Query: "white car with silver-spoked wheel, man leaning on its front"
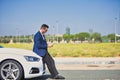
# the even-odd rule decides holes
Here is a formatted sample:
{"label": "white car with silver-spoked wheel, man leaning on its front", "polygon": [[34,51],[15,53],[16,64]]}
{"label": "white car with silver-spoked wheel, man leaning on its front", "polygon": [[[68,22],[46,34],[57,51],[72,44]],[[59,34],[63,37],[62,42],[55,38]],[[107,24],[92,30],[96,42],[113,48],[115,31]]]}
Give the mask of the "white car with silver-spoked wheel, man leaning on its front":
{"label": "white car with silver-spoked wheel, man leaning on its front", "polygon": [[0,80],[22,80],[43,73],[42,58],[33,51],[0,48]]}

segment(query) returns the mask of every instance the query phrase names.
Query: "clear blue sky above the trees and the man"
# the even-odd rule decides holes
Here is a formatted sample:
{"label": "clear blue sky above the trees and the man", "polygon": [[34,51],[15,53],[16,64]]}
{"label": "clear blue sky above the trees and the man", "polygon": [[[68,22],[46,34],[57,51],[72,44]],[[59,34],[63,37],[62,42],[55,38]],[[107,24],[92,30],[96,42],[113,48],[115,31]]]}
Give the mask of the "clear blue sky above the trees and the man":
{"label": "clear blue sky above the trees and the man", "polygon": [[120,34],[120,0],[0,0],[0,36],[93,32]]}

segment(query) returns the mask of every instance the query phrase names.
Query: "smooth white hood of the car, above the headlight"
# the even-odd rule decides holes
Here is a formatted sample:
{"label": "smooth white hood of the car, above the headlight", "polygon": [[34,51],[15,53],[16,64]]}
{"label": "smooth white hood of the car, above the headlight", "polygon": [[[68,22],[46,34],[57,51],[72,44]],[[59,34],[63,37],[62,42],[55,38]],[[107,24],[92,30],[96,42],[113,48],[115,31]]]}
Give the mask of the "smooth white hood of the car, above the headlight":
{"label": "smooth white hood of the car, above the headlight", "polygon": [[16,55],[27,55],[27,56],[38,56],[31,50],[19,49],[19,48],[0,48],[0,54],[16,54]]}

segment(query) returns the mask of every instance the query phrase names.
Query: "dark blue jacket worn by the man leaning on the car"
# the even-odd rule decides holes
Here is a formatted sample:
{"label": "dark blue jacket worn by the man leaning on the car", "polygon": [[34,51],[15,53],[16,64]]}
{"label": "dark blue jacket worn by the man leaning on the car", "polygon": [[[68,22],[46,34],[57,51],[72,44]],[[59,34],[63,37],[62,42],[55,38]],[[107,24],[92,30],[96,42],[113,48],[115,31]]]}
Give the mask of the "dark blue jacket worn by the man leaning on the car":
{"label": "dark blue jacket worn by the man leaning on the car", "polygon": [[34,35],[33,52],[35,52],[41,57],[44,57],[47,52],[47,48],[48,48],[48,45],[47,45],[46,40],[43,39],[42,34],[40,33],[40,31],[38,31]]}

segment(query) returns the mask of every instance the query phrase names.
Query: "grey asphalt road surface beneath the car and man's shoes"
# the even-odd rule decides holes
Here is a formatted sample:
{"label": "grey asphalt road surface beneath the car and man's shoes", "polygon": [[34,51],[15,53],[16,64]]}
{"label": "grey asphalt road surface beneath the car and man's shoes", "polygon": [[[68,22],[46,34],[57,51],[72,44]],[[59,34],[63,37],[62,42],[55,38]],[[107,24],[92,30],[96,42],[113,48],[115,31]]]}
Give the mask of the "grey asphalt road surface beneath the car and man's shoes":
{"label": "grey asphalt road surface beneath the car and man's shoes", "polygon": [[[65,80],[120,80],[120,70],[60,70]],[[47,72],[42,77],[26,80],[54,80]]]}

